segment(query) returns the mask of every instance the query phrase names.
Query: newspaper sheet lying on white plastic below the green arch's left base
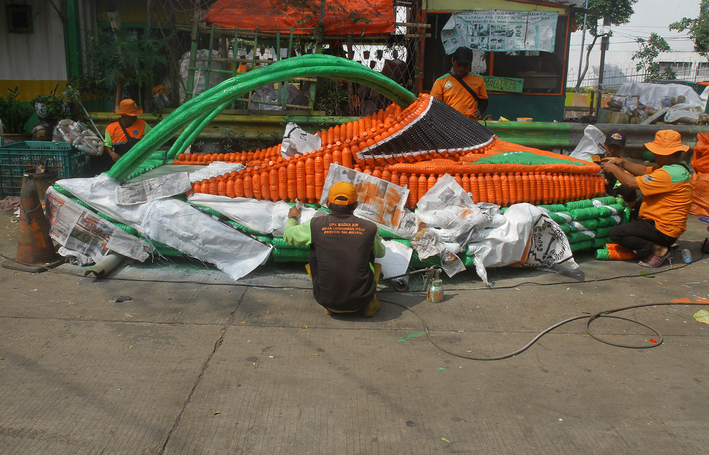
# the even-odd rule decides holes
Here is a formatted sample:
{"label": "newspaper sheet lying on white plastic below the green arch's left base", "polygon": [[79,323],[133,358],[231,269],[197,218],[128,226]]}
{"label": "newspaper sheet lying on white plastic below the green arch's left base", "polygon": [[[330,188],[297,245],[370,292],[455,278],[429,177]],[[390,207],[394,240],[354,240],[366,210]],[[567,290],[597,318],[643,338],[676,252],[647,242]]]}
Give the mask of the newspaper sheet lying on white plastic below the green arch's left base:
{"label": "newspaper sheet lying on white plastic below the green arch's left base", "polygon": [[133,206],[135,204],[155,201],[176,194],[182,194],[191,188],[189,173],[175,172],[121,184],[116,187],[116,203],[119,206]]}

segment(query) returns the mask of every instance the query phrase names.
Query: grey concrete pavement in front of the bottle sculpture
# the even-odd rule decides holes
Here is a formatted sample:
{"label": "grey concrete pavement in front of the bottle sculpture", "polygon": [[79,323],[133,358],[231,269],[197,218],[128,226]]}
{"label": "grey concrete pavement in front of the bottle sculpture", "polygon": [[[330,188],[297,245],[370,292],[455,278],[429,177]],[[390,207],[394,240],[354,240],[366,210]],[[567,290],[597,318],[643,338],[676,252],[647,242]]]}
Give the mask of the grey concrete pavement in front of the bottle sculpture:
{"label": "grey concrete pavement in front of the bottle sculpture", "polygon": [[[0,213],[6,256],[16,226]],[[695,259],[706,226],[691,217],[680,240]],[[411,336],[422,323],[391,303],[371,319],[325,315],[300,264],[238,284],[169,260],[108,279],[0,269],[0,454],[704,454],[709,326],[681,302],[709,298],[707,257],[649,274],[576,259],[576,276],[493,270],[493,289],[472,271],[444,278],[439,304],[413,280],[379,296],[463,356],[513,352],[576,315],[679,300],[621,314],[664,343],[613,347],[577,320],[518,356],[473,361]],[[657,338],[623,320],[592,328]]]}

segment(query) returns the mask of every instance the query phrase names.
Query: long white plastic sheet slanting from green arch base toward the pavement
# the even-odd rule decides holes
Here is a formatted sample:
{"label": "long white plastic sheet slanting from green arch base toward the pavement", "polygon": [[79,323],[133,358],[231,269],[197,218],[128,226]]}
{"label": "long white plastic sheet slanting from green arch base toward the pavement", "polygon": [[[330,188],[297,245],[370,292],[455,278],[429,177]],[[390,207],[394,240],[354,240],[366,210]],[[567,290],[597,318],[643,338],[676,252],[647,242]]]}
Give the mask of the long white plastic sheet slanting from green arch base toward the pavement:
{"label": "long white plastic sheet slanting from green arch base toward the pavement", "polygon": [[118,206],[114,201],[118,182],[106,174],[90,179],[64,179],[57,184],[152,240],[215,264],[234,280],[262,264],[271,252],[271,245],[264,245],[177,199]]}

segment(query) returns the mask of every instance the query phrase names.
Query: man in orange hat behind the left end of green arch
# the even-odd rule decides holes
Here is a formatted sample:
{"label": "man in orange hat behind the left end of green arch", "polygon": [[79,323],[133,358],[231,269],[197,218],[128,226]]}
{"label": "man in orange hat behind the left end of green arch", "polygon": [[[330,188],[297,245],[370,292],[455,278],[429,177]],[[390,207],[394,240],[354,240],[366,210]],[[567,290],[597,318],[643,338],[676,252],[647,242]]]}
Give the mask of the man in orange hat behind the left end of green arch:
{"label": "man in orange hat behind the left end of green arch", "polygon": [[113,162],[118,161],[125,152],[130,150],[138,140],[150,131],[150,126],[145,120],[138,118],[143,109],[138,107],[132,99],[124,99],[118,104],[116,113],[121,116],[117,122],[109,123],[106,127],[104,150],[108,152]]}

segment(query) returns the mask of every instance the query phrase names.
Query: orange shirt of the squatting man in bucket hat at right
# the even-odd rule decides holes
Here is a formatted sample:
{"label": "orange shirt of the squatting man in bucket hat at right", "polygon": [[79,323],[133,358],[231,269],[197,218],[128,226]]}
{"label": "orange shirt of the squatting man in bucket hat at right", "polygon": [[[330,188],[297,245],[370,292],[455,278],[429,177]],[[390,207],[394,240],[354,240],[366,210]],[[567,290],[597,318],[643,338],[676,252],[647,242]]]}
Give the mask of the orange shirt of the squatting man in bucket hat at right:
{"label": "orange shirt of the squatting man in bucket hat at right", "polygon": [[644,196],[640,218],[655,220],[655,228],[665,235],[682,235],[692,206],[690,178],[689,171],[676,163],[648,167],[647,174],[635,177]]}

